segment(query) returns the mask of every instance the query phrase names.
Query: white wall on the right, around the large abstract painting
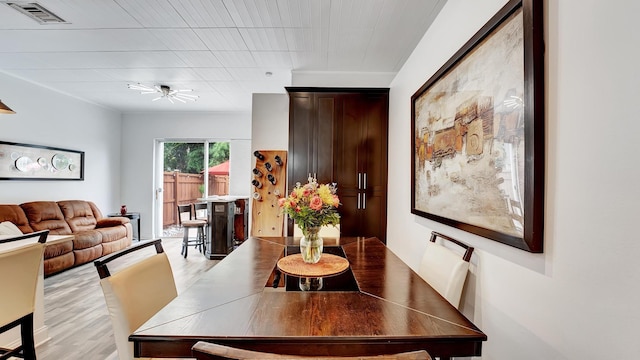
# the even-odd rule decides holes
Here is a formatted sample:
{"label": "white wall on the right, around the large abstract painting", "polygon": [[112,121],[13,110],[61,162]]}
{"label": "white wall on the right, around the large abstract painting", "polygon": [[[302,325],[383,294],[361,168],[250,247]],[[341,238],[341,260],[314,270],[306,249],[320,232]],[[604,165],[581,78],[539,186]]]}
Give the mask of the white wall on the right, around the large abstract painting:
{"label": "white wall on the right, around the large abstract painting", "polygon": [[410,97],[505,3],[449,0],[391,84],[388,246],[413,268],[431,230],[476,247],[482,359],[638,359],[639,2],[544,2],[544,254],[410,213]]}

